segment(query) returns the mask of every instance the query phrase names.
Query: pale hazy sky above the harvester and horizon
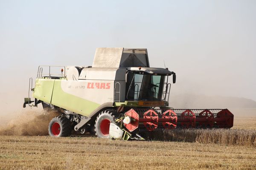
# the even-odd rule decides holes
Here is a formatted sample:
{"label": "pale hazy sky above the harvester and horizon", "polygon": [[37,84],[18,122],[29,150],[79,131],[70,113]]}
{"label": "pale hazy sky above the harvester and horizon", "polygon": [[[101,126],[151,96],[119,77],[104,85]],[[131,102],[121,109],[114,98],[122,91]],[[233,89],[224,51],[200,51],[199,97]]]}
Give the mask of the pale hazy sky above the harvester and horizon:
{"label": "pale hazy sky above the harvester and horizon", "polygon": [[38,65],[91,65],[97,47],[148,48],[172,93],[256,100],[255,0],[0,0],[0,93],[27,94]]}

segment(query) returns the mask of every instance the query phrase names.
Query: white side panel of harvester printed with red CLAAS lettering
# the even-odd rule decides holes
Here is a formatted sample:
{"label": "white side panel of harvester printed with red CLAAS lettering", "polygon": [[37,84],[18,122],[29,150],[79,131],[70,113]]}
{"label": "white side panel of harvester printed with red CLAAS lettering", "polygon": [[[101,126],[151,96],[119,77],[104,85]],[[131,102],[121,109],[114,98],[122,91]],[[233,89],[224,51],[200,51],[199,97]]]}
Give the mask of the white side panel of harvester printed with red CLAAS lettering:
{"label": "white side panel of harvester printed with red CLAAS lettering", "polygon": [[61,83],[61,88],[68,94],[98,104],[124,102],[126,70],[126,68],[83,68],[78,81],[64,81]]}

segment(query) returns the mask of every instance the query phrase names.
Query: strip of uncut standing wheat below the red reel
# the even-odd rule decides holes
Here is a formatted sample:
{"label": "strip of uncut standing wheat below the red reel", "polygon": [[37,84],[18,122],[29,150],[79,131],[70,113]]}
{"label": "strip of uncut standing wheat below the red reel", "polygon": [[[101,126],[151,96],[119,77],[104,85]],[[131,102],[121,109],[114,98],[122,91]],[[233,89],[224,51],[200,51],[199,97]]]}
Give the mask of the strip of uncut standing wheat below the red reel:
{"label": "strip of uncut standing wheat below the red reel", "polygon": [[154,140],[199,142],[256,147],[256,130],[245,129],[174,129],[156,130]]}

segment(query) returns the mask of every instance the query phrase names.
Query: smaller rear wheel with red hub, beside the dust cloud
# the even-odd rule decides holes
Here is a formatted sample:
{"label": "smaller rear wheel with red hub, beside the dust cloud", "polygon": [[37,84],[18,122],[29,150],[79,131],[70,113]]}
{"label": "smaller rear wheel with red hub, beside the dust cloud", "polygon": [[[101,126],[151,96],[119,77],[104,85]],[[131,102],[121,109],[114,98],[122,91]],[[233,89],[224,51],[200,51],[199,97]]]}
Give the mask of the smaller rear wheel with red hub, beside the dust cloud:
{"label": "smaller rear wheel with red hub, beside the dust cloud", "polygon": [[50,136],[66,137],[71,135],[71,131],[71,122],[65,116],[57,116],[49,123],[48,132]]}

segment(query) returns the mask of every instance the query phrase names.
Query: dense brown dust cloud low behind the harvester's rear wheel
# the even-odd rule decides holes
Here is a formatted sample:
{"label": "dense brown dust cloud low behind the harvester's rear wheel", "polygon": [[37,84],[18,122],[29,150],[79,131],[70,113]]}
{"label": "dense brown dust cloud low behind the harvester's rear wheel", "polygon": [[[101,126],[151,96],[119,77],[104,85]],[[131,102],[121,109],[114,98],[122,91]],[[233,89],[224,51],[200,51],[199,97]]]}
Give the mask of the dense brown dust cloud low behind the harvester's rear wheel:
{"label": "dense brown dust cloud low behind the harvester's rear wheel", "polygon": [[58,116],[56,112],[20,111],[9,121],[2,122],[0,135],[45,136],[48,135],[49,121]]}

